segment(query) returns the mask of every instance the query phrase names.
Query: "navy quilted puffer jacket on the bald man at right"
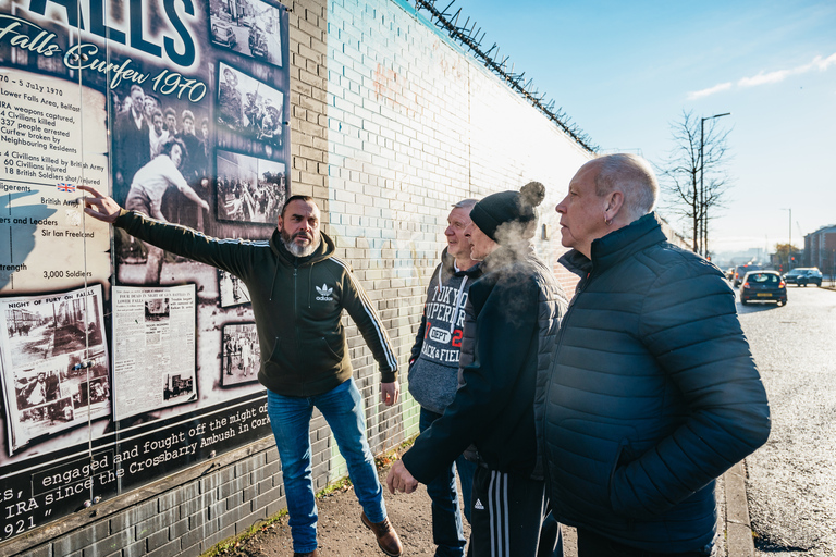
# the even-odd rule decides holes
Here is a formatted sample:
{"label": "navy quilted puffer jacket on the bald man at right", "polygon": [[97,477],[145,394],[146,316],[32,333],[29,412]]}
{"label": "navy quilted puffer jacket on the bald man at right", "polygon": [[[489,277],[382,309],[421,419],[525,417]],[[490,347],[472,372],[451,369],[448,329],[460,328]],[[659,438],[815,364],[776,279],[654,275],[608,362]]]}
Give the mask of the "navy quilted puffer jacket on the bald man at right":
{"label": "navy quilted puffer jacket on the bald man at right", "polygon": [[646,550],[704,550],[714,479],[770,432],[734,293],[653,214],[564,261],[581,282],[545,397],[555,515]]}

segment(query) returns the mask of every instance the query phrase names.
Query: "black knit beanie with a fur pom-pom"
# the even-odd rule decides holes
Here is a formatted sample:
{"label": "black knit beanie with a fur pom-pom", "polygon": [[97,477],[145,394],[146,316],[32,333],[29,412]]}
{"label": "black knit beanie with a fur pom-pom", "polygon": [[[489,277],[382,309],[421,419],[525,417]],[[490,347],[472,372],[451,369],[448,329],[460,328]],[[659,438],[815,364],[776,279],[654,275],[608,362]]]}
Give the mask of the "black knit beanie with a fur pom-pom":
{"label": "black knit beanie with a fur pom-pom", "polygon": [[470,210],[470,220],[492,240],[497,242],[496,230],[505,223],[526,225],[537,220],[534,207],[545,197],[545,186],[529,182],[519,191],[491,194]]}

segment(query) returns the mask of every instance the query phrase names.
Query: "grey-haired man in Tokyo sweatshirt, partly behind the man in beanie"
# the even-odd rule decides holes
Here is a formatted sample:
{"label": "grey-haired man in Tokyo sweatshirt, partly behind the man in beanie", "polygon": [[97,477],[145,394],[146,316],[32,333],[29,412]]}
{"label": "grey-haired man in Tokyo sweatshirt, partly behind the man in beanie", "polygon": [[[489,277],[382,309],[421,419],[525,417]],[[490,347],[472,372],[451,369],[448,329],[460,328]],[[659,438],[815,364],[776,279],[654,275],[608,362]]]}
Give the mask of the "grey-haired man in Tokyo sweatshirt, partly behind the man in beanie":
{"label": "grey-haired man in Tokyo sweatshirt, partly behind the man in beanie", "polygon": [[[409,393],[421,405],[418,419],[421,432],[441,418],[458,387],[465,302],[474,281],[482,274],[479,262],[470,259],[470,242],[465,237],[474,205],[476,199],[465,199],[450,211],[444,231],[447,247],[441,253],[441,263],[432,272],[421,324],[409,357]],[[460,455],[455,467],[451,463],[427,484],[427,494],[432,500],[432,542],[438,546],[435,557],[465,555],[467,539],[458,508],[456,469],[462,481],[465,518],[470,521],[470,488],[476,463]]]}

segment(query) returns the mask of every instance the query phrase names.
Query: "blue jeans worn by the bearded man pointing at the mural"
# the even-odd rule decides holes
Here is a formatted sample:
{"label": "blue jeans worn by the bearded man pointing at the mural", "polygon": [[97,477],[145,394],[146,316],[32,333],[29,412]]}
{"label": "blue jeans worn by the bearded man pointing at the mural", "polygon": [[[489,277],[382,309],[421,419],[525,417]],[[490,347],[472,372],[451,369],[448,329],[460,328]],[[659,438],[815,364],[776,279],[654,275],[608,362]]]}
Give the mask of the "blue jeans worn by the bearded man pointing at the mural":
{"label": "blue jeans worn by the bearded man pointing at the mural", "polygon": [[331,426],[366,516],[372,522],[382,522],[386,518],[383,487],[366,441],[360,392],[354,380],[307,398],[282,396],[268,389],[267,413],[282,460],[290,515],[287,523],[296,553],[309,553],[317,548],[318,515],[310,466],[310,417],[314,407],[322,412]]}

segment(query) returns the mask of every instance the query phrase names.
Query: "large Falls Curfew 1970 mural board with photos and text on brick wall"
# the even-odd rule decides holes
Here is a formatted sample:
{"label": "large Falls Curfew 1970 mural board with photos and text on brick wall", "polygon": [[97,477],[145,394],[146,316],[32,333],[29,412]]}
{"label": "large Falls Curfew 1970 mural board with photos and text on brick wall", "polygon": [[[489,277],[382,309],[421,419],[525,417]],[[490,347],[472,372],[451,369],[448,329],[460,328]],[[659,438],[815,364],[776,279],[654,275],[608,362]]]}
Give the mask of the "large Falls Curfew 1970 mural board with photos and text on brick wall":
{"label": "large Falls Curfew 1970 mural board with photos and text on brick wall", "polygon": [[[106,3],[0,0],[4,539],[270,432],[244,284],[86,218],[78,186],[269,238],[291,193],[286,9]],[[228,414],[260,418],[207,428]]]}

